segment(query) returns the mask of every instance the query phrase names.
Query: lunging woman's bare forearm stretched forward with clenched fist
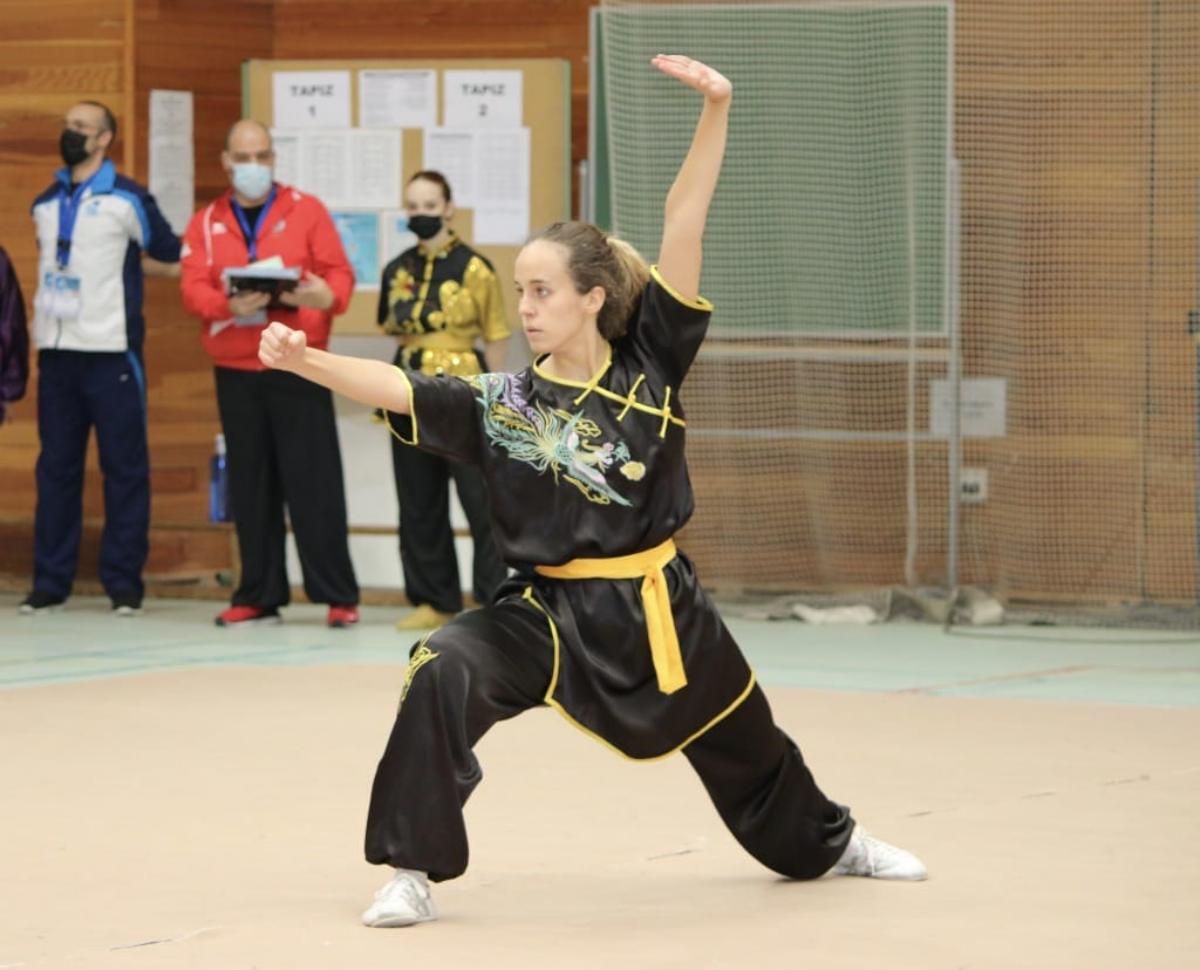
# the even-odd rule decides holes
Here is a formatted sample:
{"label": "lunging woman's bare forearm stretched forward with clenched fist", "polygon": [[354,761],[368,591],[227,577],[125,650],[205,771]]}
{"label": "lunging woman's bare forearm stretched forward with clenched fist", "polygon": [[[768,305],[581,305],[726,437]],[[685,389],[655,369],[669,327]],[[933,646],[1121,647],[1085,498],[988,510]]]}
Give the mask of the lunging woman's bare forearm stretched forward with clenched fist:
{"label": "lunging woman's bare forearm stretched forward with clenched fist", "polygon": [[371,407],[409,414],[408,381],[391,364],[342,357],[307,346],[302,330],[272,323],[258,342],[258,359]]}

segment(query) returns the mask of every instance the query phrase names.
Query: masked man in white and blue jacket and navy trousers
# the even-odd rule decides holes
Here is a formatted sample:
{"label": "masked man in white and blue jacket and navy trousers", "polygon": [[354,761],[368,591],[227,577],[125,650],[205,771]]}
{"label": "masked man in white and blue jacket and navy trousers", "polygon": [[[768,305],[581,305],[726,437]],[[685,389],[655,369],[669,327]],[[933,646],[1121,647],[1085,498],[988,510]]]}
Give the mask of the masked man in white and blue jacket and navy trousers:
{"label": "masked man in white and blue jacket and navy trousers", "polygon": [[83,531],[88,436],[96,429],[104,478],[100,580],[120,616],[142,609],[149,551],[150,460],[142,343],[145,253],[179,262],[179,236],[140,185],[107,158],[113,113],[82,101],[66,114],[59,149],[66,167],[34,200],[38,281],[37,514],[34,589],[26,613],[71,594]]}

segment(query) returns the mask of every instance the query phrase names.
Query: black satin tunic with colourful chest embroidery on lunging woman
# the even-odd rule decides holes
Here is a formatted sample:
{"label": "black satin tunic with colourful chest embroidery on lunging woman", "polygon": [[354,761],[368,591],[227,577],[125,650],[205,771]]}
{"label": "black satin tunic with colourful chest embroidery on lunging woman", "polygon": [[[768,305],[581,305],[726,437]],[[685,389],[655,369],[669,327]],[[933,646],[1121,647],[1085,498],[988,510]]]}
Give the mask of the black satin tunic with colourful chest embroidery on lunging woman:
{"label": "black satin tunic with colourful chest embroidery on lunging woman", "polygon": [[670,695],[658,688],[641,580],[548,579],[533,567],[648,550],[691,516],[678,390],[710,311],[655,271],[590,382],[536,363],[515,375],[407,373],[413,414],[396,427],[482,469],[496,543],[518,574],[502,595],[540,609],[557,651],[546,702],[630,758],[702,734],[749,693],[750,669],[682,555],[664,573],[688,684]]}

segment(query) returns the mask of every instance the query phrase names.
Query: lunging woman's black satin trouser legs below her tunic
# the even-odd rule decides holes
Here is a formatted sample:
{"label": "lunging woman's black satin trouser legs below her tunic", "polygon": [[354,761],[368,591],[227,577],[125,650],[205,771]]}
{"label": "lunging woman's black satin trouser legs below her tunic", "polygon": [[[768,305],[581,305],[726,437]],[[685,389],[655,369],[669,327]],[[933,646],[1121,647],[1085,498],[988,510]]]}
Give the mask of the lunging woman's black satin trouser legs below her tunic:
{"label": "lunging woman's black satin trouser legs below her tunic", "polygon": [[[367,862],[434,881],[466,870],[462,807],[482,778],[472,748],[496,721],[541,703],[552,659],[545,618],[511,600],[463,613],[415,648],[371,791]],[[757,687],[684,755],[763,866],[814,879],[841,857],[850,812],[821,794]]]}

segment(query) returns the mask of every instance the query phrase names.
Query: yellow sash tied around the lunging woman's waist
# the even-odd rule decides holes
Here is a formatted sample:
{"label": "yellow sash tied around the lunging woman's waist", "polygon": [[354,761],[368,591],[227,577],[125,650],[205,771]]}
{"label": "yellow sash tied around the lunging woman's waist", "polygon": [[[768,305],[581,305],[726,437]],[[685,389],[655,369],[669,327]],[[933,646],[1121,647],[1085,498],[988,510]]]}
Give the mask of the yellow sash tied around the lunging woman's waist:
{"label": "yellow sash tied around the lunging woman's waist", "polygon": [[608,559],[571,559],[563,565],[538,565],[542,576],[556,580],[636,580],[642,579],[642,607],[646,611],[646,631],[650,639],[650,658],[659,690],[674,694],[688,684],[679,653],[679,636],[676,634],[674,616],[671,612],[671,594],[662,567],[676,557],[673,539]]}

